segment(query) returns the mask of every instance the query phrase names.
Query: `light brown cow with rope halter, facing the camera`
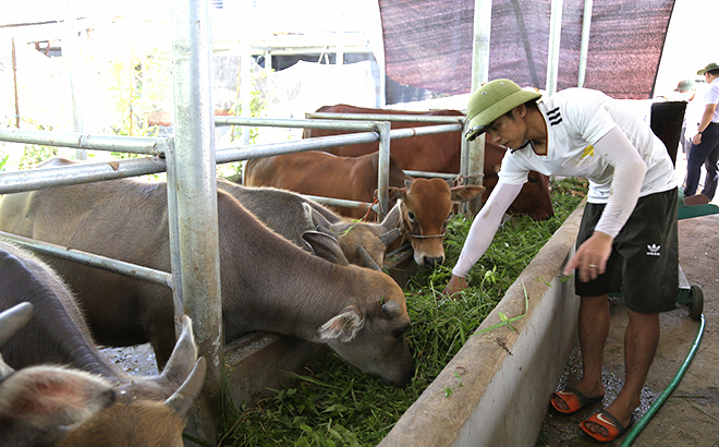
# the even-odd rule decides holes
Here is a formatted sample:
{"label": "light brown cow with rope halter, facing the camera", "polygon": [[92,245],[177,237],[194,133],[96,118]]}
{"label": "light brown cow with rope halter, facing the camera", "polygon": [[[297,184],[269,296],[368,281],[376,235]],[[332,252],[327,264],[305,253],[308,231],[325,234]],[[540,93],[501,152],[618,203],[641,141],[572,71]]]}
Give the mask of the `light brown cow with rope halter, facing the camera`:
{"label": "light brown cow with rope halter, facing the camera", "polygon": [[[303,152],[247,161],[244,183],[275,186],[301,194],[371,202],[377,190],[379,153],[338,157],[322,152]],[[485,190],[466,185],[450,188],[440,179],[413,179],[390,156],[390,198],[401,204],[401,225],[410,238],[417,265],[444,262],[442,238],[452,202],[466,202]],[[391,204],[390,204],[391,205]],[[338,207],[340,214],[361,218],[356,208]]]}

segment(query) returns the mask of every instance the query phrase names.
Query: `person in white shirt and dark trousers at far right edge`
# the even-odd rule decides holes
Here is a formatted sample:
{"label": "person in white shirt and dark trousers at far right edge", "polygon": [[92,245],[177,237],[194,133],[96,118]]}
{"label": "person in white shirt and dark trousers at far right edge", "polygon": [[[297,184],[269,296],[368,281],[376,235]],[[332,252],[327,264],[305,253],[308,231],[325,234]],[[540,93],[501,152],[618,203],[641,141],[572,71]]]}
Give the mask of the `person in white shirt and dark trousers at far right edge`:
{"label": "person in white shirt and dark trousers at far right edge", "polygon": [[[684,203],[699,205],[711,202],[719,181],[719,64],[711,62],[696,74],[704,75],[709,89],[704,95],[704,113],[697,133],[692,137],[692,145],[686,159],[686,179],[684,180]],[[704,189],[696,194],[699,184],[702,165],[707,171]]]}

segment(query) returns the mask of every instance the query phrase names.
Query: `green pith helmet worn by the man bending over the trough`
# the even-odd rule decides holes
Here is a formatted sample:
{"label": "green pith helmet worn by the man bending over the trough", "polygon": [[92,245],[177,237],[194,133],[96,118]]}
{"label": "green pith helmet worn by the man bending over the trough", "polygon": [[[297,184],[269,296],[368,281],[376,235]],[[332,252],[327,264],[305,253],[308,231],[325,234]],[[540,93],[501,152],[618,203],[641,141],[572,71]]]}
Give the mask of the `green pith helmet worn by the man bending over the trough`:
{"label": "green pith helmet worn by the man bending over the trough", "polygon": [[510,80],[495,80],[474,90],[467,101],[470,130],[464,135],[472,141],[487,131],[497,118],[532,99],[541,96],[520,88]]}

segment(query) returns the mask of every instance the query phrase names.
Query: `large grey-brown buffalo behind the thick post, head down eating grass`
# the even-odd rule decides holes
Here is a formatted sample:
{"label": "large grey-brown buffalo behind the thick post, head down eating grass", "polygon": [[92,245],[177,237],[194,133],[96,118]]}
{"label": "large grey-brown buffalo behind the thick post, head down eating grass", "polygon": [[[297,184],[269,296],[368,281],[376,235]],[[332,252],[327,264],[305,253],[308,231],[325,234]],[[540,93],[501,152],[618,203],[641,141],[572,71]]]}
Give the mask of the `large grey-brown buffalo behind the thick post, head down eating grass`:
{"label": "large grey-brown buffalo behind the thick post, head down eating grass", "polygon": [[[41,166],[63,165],[53,159]],[[403,386],[414,372],[402,289],[388,275],[313,256],[218,191],[226,340],[255,330],[326,343],[360,370]],[[8,194],[0,230],[170,270],[167,185],[119,179]],[[336,239],[305,233],[318,254],[343,256]],[[166,287],[48,257],[85,310],[98,342],[150,341],[161,369],[174,345]]]}

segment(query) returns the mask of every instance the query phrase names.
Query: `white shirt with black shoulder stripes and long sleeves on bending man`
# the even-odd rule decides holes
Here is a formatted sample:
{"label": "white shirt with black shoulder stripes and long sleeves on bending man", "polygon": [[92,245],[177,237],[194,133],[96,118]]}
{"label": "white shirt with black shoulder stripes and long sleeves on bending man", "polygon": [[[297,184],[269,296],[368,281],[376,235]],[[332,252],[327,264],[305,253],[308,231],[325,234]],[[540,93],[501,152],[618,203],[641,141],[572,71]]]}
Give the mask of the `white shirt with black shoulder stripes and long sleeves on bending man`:
{"label": "white shirt with black shoulder stripes and long sleeves on bending man", "polygon": [[589,180],[587,202],[607,204],[596,230],[616,237],[638,197],[677,186],[663,143],[647,123],[601,92],[568,88],[538,102],[547,125],[547,154],[531,144],[508,150],[499,182],[472,224],[452,273],[465,277],[484,255],[502,215],[529,170]]}

